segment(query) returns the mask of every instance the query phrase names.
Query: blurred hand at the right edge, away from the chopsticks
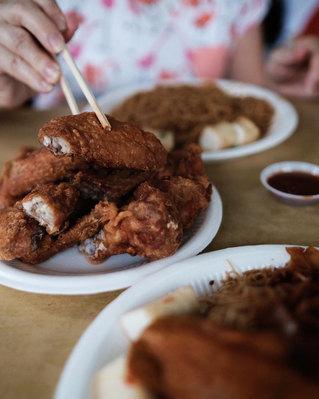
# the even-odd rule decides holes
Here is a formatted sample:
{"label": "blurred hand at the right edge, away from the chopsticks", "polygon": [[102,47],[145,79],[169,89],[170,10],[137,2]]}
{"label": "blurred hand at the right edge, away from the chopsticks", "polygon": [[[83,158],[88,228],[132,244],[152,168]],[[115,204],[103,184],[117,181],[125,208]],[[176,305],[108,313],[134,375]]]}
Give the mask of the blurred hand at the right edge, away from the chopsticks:
{"label": "blurred hand at the right edge, away from the chopsticks", "polygon": [[319,97],[319,38],[305,36],[280,46],[267,65],[271,84],[284,95]]}

